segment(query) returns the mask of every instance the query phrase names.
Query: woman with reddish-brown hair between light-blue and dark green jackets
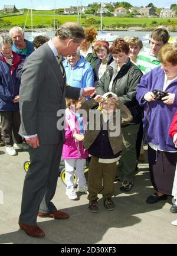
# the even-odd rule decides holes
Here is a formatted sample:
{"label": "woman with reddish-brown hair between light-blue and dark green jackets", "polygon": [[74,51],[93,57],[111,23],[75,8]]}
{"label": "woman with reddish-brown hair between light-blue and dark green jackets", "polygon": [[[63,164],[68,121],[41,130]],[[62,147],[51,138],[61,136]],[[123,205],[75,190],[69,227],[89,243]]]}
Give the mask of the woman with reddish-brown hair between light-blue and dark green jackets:
{"label": "woman with reddish-brown hair between light-blue and dark green jackets", "polygon": [[110,54],[109,43],[107,41],[97,41],[94,43],[93,53],[99,58],[97,59],[96,66],[94,67],[94,85],[103,76],[107,69],[107,65],[112,63],[113,56]]}

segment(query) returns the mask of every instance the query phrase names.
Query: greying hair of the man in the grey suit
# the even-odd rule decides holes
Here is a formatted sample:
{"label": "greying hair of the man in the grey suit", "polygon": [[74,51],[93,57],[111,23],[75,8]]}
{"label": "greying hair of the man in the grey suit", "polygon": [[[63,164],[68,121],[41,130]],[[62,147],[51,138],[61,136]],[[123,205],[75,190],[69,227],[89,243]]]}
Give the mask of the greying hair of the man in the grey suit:
{"label": "greying hair of the man in the grey suit", "polygon": [[80,43],[81,40],[86,38],[86,35],[81,25],[75,22],[67,22],[58,28],[55,37],[59,37],[61,40],[72,38],[75,43]]}

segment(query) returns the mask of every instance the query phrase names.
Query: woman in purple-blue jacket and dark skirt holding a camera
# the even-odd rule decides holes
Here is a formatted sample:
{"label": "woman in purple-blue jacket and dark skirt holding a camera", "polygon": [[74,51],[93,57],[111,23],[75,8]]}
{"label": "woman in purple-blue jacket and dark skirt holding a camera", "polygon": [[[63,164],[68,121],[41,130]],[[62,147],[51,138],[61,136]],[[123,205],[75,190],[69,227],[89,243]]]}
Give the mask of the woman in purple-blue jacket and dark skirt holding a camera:
{"label": "woman in purple-blue jacket and dark skirt holding a camera", "polygon": [[144,132],[148,143],[150,179],[156,190],[146,203],[157,203],[172,195],[177,160],[176,148],[168,135],[177,110],[177,48],[165,44],[160,48],[159,60],[162,66],[142,77],[136,96],[145,109]]}

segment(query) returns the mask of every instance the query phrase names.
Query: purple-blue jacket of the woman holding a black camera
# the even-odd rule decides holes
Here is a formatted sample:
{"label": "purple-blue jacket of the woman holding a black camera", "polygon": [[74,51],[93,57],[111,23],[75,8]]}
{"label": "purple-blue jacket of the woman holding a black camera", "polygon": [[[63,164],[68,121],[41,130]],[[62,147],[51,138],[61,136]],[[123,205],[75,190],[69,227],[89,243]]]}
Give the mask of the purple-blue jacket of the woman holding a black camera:
{"label": "purple-blue jacket of the woman holding a black camera", "polygon": [[161,150],[176,151],[168,132],[173,116],[177,111],[177,79],[166,88],[166,92],[175,93],[175,101],[172,105],[167,105],[159,100],[152,102],[143,100],[143,96],[147,92],[152,92],[154,89],[163,90],[164,79],[165,73],[161,67],[156,67],[146,73],[137,85],[136,99],[140,106],[144,106],[145,142],[159,145]]}

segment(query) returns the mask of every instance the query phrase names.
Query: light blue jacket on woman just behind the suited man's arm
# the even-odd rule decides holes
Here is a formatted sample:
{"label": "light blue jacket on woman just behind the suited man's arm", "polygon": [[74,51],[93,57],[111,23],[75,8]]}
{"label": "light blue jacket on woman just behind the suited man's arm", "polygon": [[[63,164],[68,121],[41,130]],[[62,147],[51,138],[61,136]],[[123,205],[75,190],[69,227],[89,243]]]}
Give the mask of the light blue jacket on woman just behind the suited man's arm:
{"label": "light blue jacket on woman just behind the suited man's arm", "polygon": [[86,88],[94,86],[93,69],[90,63],[85,60],[83,56],[80,56],[74,69],[71,68],[70,63],[67,60],[63,61],[63,66],[66,73],[66,82],[68,85],[77,88]]}

